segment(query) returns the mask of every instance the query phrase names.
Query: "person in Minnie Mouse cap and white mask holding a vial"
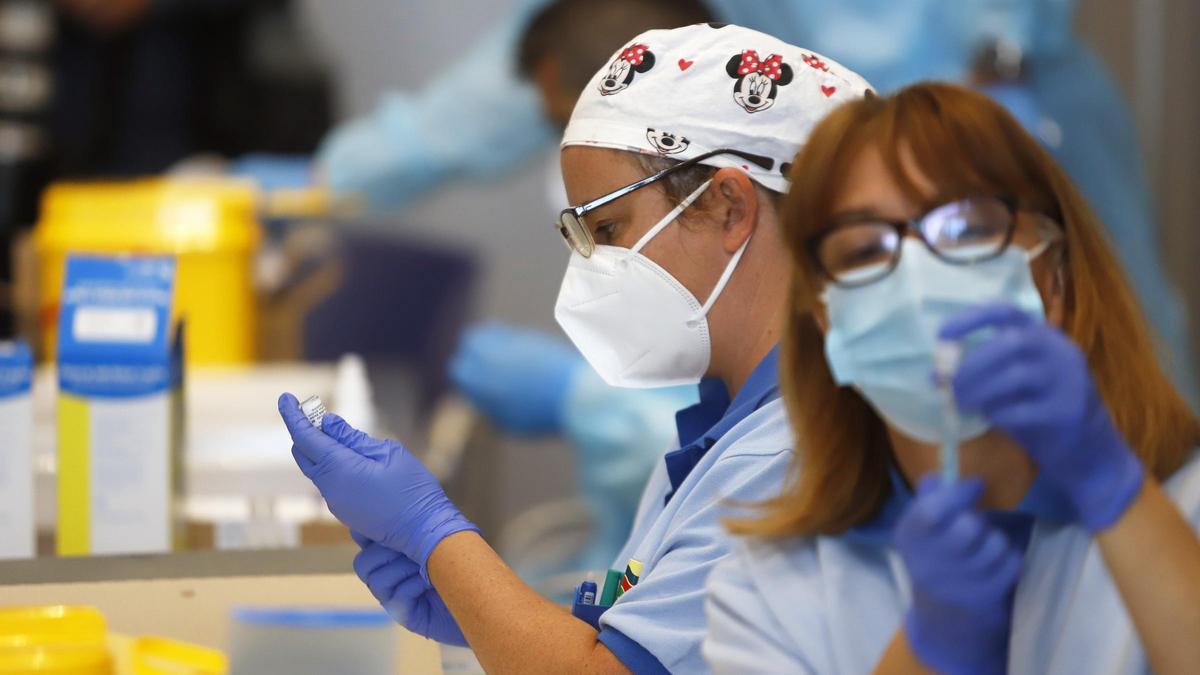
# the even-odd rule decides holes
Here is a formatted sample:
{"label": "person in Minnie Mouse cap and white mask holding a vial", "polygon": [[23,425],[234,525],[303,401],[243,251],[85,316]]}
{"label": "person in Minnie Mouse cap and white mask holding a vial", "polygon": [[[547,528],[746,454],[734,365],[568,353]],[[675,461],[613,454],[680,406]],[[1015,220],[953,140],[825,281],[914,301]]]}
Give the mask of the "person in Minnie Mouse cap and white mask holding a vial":
{"label": "person in Minnie Mouse cap and white mask holding a vial", "polygon": [[598,72],[563,137],[574,252],[556,316],[611,384],[697,383],[613,567],[628,590],[598,620],[522,584],[401,444],[330,416],[280,412],[301,470],[362,551],[355,571],[409,629],[469,644],[485,669],[697,673],[703,583],[730,550],[731,502],[776,491],[791,429],[775,345],[788,259],[774,202],[811,126],[866,83],[839,64],[722,24],[634,37]]}

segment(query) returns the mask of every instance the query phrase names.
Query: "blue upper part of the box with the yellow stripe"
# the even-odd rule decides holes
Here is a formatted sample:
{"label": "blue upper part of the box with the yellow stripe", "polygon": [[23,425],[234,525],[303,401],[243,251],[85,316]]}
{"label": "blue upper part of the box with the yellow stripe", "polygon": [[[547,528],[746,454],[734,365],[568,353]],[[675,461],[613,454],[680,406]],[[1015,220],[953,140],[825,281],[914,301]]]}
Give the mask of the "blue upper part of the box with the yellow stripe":
{"label": "blue upper part of the box with the yellow stripe", "polygon": [[84,396],[142,396],[178,382],[174,281],[170,257],[70,257],[59,387]]}

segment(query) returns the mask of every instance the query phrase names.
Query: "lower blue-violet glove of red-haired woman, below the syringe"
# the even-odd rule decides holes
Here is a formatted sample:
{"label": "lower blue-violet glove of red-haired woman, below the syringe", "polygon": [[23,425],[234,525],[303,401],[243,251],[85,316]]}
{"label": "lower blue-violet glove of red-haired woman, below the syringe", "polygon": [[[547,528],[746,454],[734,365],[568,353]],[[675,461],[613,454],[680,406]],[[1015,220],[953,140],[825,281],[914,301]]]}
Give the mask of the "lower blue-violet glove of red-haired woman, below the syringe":
{"label": "lower blue-violet glove of red-haired woman, below the syringe", "polygon": [[896,522],[895,546],[912,579],[905,635],[938,673],[1004,673],[1012,595],[1021,558],[972,508],[983,482],[943,485],[926,476]]}

